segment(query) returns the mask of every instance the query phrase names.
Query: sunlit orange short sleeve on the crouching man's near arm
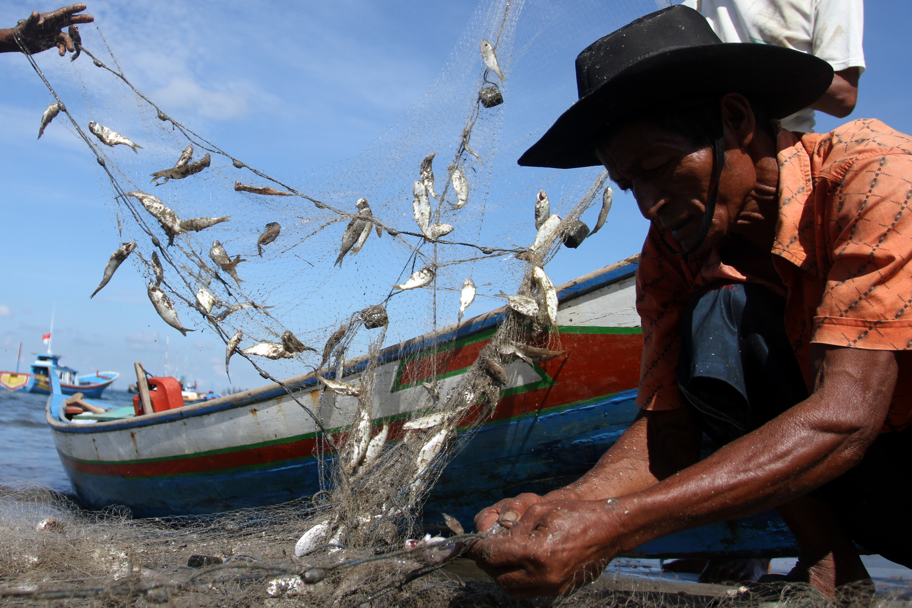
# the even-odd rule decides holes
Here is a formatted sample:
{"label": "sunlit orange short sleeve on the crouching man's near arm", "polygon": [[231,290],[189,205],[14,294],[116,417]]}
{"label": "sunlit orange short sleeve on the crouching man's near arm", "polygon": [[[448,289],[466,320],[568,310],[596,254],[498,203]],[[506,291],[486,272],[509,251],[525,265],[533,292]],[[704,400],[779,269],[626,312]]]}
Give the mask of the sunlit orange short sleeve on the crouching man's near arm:
{"label": "sunlit orange short sleeve on the crouching man's near arm", "polygon": [[817,213],[830,260],[811,342],[910,350],[912,154],[855,160],[838,177]]}

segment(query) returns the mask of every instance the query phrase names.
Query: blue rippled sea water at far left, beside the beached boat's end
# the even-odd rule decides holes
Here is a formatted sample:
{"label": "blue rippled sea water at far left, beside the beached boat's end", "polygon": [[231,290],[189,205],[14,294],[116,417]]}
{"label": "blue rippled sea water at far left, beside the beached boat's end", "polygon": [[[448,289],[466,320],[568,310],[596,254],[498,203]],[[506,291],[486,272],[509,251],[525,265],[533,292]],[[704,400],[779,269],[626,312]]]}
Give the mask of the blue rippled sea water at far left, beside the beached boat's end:
{"label": "blue rippled sea water at far left, beside the beached boat's end", "polygon": [[[132,404],[126,391],[106,389],[98,400],[106,406]],[[0,484],[32,482],[73,495],[47,426],[47,395],[11,393],[0,388]]]}

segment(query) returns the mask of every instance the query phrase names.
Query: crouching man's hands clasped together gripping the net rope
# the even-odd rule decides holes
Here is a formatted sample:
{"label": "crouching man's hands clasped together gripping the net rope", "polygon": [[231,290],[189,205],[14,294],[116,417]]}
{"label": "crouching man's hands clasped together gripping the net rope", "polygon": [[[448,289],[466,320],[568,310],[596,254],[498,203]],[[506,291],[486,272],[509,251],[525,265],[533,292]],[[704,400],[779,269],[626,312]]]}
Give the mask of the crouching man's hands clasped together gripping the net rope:
{"label": "crouching man's hands clasped together gripping the net rope", "polygon": [[569,593],[598,578],[617,553],[615,502],[528,505],[510,530],[476,541],[469,557],[513,597]]}

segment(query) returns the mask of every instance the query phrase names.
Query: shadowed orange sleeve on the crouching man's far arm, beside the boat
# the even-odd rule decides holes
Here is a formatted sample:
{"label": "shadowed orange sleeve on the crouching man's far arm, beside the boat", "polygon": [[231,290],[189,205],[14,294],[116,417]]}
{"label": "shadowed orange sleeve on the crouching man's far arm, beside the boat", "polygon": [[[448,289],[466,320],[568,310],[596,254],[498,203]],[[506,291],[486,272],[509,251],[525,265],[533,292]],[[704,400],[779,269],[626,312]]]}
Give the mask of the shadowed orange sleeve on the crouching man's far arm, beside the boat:
{"label": "shadowed orange sleeve on the crouching man's far arm, beside the boat", "polygon": [[680,319],[693,291],[681,259],[668,251],[661,238],[651,226],[637,268],[637,313],[643,326],[637,407],[655,410],[681,405]]}

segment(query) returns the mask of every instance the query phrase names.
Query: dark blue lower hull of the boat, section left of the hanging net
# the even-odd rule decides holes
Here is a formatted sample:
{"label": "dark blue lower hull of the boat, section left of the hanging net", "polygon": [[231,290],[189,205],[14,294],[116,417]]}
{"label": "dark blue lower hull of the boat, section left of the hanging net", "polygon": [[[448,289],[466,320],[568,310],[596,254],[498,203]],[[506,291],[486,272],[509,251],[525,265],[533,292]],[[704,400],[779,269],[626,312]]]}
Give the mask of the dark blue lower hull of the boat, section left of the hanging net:
{"label": "dark blue lower hull of the boat, section left of the hanging net", "polygon": [[66,469],[88,507],[129,507],[134,517],[202,515],[312,496],[319,488],[316,460],[285,460],[268,468],[206,475],[104,477]]}

